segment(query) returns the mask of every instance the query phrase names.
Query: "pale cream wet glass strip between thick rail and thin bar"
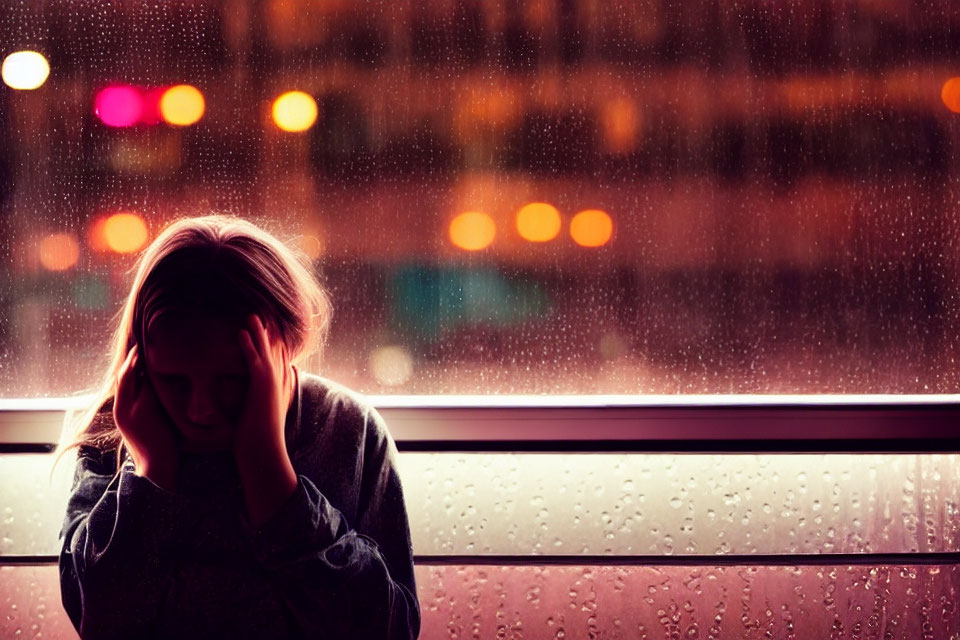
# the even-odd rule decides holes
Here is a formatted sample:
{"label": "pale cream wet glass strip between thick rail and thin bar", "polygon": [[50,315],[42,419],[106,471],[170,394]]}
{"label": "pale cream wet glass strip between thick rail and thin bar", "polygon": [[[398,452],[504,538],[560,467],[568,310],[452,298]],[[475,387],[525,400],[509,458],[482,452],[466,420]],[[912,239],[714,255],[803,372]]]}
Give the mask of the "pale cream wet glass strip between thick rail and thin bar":
{"label": "pale cream wet glass strip between thick rail and thin bar", "polygon": [[[58,551],[69,464],[0,456],[0,555]],[[417,555],[960,551],[960,455],[402,453]]]}

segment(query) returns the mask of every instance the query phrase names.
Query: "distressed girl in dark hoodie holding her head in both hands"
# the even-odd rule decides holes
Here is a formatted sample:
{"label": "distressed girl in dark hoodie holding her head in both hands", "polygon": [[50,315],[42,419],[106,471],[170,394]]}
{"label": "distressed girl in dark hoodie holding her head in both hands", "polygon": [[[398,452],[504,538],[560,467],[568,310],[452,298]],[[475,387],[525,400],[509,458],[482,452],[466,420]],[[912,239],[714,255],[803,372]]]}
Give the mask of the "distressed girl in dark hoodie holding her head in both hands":
{"label": "distressed girl in dark hoodie holding her head in both hands", "polygon": [[182,220],[146,250],[70,445],[60,584],[82,638],[417,636],[394,443],[295,364],[328,318],[242,220]]}

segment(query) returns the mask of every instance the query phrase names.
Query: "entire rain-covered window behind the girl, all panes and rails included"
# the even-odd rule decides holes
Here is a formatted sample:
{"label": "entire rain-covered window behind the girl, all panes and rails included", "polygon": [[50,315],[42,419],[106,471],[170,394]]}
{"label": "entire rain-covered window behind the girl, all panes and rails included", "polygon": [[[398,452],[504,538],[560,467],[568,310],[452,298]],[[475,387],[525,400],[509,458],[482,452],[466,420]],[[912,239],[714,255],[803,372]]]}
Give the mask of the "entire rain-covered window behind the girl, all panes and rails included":
{"label": "entire rain-covered window behind the girl, all panes and rails included", "polygon": [[69,637],[44,443],[137,251],[221,212],[332,293],[308,368],[382,394],[424,637],[957,637],[958,36],[943,1],[0,0],[0,636]]}

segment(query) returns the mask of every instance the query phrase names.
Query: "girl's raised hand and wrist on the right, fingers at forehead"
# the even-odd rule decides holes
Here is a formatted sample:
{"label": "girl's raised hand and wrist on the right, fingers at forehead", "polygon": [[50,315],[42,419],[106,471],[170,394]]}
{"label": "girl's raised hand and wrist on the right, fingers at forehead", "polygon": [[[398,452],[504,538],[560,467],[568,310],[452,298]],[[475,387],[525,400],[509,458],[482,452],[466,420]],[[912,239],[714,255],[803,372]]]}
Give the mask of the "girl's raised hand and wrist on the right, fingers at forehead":
{"label": "girl's raised hand and wrist on the right, fingers at forehead", "polygon": [[250,378],[234,439],[234,457],[243,482],[250,520],[270,519],[297,488],[297,475],[284,441],[293,398],[293,368],[286,346],[271,340],[256,315],[238,336]]}

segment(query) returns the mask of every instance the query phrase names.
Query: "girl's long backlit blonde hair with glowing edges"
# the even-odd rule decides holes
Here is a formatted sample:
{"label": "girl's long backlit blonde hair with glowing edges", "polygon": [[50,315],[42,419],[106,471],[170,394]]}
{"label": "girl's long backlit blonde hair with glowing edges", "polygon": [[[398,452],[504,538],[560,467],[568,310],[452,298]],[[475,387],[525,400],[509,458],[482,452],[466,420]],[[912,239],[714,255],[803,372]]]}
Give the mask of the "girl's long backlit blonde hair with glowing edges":
{"label": "girl's long backlit blonde hair with glowing edges", "polygon": [[177,220],[141,255],[114,331],[110,365],[94,402],[68,419],[68,436],[56,459],[79,447],[116,451],[117,470],[125,446],[113,422],[120,369],[135,344],[144,343],[150,320],[169,310],[210,313],[234,321],[256,313],[301,364],[319,356],[332,309],[305,257],[263,229],[229,216]]}

